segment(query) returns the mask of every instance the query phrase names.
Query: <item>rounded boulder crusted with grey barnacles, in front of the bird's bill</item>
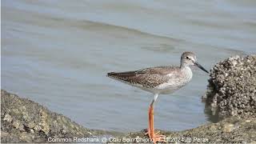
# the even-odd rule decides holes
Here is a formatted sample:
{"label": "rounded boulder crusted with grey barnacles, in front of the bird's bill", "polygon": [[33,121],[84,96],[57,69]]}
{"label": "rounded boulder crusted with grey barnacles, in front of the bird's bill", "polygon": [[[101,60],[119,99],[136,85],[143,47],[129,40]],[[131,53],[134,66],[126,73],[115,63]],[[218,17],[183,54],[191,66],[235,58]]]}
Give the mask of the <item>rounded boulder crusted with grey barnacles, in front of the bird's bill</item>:
{"label": "rounded boulder crusted with grey barnacles, in front of the bird's bill", "polygon": [[256,55],[227,58],[210,71],[206,105],[219,118],[256,117]]}

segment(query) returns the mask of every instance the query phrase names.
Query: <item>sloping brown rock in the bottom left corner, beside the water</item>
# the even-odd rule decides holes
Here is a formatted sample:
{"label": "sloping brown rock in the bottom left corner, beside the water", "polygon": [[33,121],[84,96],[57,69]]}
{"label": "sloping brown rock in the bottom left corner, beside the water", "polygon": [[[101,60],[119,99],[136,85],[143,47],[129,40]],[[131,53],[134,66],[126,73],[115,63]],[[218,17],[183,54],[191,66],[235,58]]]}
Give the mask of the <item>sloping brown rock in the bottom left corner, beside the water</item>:
{"label": "sloping brown rock in the bottom left corner, beside the water", "polygon": [[1,90],[1,142],[49,142],[48,138],[90,138],[101,133],[104,134]]}

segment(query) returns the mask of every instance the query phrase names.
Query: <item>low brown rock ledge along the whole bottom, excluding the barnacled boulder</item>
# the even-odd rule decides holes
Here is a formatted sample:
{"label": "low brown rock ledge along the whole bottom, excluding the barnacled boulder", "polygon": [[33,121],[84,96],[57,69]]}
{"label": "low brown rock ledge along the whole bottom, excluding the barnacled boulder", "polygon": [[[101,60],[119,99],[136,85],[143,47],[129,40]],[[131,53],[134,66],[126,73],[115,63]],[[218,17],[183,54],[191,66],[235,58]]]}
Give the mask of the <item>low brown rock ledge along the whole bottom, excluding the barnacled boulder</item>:
{"label": "low brown rock ledge along the whole bottom, excluding the barnacled boulder", "polygon": [[[70,118],[50,112],[26,98],[1,90],[1,141],[2,142],[79,142],[88,143],[149,143],[146,130],[122,134],[103,130],[89,130]],[[24,117],[26,115],[26,117]],[[226,118],[178,132],[159,130],[169,143],[241,143],[256,142],[256,118]],[[48,139],[50,138],[50,139]],[[86,141],[88,139],[99,141]],[[104,138],[102,140],[102,138]],[[48,141],[50,140],[50,141]],[[78,141],[76,141],[78,142]]]}

